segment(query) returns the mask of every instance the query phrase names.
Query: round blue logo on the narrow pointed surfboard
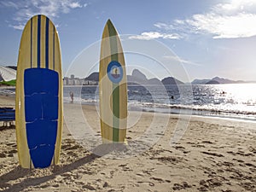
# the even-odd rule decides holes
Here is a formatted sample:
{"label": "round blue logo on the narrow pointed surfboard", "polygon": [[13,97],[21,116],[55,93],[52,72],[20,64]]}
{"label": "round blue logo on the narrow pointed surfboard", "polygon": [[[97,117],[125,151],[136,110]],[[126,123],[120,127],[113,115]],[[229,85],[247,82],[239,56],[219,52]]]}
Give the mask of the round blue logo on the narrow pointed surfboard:
{"label": "round blue logo on the narrow pointed surfboard", "polygon": [[123,79],[123,68],[118,61],[111,61],[107,68],[108,79],[118,84]]}

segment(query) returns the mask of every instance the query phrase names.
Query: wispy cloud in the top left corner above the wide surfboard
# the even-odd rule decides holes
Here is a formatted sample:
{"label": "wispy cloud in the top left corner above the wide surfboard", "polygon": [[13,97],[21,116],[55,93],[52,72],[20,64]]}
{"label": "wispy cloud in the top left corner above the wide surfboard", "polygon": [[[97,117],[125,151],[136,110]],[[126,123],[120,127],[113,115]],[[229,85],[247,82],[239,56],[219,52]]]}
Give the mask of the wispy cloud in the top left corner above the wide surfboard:
{"label": "wispy cloud in the top left corner above the wide surfboard", "polygon": [[26,21],[33,15],[42,14],[50,18],[56,18],[61,14],[69,13],[71,9],[86,7],[85,4],[79,3],[78,0],[24,0],[1,2],[0,5],[7,9],[15,9],[14,24],[9,26],[20,30],[23,29],[21,26],[25,26]]}

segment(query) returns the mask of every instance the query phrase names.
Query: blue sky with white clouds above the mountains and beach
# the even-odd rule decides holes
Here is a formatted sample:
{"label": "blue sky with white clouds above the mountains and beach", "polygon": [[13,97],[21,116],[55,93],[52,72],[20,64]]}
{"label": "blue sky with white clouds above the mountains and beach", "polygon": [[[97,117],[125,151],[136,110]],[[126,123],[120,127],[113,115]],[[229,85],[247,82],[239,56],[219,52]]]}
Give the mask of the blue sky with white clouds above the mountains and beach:
{"label": "blue sky with white clouds above the mountains and beach", "polygon": [[256,0],[0,0],[0,65],[16,65],[22,30],[38,14],[57,27],[65,76],[98,71],[110,19],[128,74],[256,80]]}

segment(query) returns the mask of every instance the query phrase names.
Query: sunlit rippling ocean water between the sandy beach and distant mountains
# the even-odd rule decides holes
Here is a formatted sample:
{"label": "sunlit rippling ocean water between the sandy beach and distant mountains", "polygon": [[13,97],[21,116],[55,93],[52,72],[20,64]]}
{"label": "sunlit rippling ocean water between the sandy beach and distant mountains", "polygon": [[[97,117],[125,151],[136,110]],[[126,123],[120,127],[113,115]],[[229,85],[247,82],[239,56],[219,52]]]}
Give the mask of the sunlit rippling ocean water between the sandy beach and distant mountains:
{"label": "sunlit rippling ocean water between the sandy beach and distant mountains", "polygon": [[[98,86],[65,86],[64,102],[98,105]],[[15,96],[14,88],[0,95]],[[128,110],[256,120],[256,84],[129,85]]]}

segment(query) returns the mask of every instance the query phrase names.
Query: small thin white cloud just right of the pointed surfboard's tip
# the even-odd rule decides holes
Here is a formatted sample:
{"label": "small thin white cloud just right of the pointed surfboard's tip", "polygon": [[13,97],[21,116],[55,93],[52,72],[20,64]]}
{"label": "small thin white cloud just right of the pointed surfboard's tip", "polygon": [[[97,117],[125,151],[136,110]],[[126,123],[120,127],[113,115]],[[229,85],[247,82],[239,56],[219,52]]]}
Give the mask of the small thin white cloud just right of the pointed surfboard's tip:
{"label": "small thin white cloud just right of the pointed surfboard's tip", "polygon": [[142,40],[151,40],[156,38],[179,39],[181,37],[178,34],[160,33],[160,32],[143,32],[140,35],[134,35],[130,37],[130,39],[142,39]]}

